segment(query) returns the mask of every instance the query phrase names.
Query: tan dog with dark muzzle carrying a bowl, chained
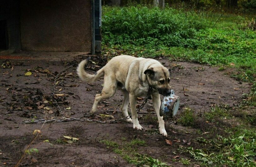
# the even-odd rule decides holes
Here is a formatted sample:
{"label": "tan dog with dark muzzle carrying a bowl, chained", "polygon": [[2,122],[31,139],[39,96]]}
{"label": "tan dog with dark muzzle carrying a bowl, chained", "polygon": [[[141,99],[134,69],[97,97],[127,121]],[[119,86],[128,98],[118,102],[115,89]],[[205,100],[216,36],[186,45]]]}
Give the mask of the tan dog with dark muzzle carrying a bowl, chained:
{"label": "tan dog with dark muzzle carrying a bowl, chained", "polygon": [[[104,67],[95,74],[89,74],[84,70],[84,66],[90,61],[90,57],[79,63],[77,74],[85,83],[94,83],[97,79],[104,76],[104,86],[101,94],[95,95],[94,104],[90,115],[97,112],[99,101],[111,98],[116,89],[122,90],[124,94],[121,111],[123,116],[128,117],[128,105],[130,103],[132,119],[128,118],[129,123],[133,123],[133,128],[142,130],[136,112],[137,97],[147,96],[148,92],[152,95],[152,102],[158,117],[159,131],[163,136],[167,136],[163,116],[160,112],[160,94],[166,96],[171,93],[169,82],[170,69],[164,67],[154,59],[132,57],[120,55],[113,57]],[[150,87],[152,88],[151,90]]]}

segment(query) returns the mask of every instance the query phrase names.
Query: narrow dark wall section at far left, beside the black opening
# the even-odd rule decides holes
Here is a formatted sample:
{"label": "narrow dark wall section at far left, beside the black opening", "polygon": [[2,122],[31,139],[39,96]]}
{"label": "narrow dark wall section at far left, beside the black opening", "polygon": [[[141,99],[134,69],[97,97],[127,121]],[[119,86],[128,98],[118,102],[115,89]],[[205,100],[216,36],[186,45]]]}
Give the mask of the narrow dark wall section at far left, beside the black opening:
{"label": "narrow dark wall section at far left, beside the black opening", "polygon": [[18,0],[0,0],[0,20],[6,20],[7,49],[10,52],[19,51],[20,24]]}

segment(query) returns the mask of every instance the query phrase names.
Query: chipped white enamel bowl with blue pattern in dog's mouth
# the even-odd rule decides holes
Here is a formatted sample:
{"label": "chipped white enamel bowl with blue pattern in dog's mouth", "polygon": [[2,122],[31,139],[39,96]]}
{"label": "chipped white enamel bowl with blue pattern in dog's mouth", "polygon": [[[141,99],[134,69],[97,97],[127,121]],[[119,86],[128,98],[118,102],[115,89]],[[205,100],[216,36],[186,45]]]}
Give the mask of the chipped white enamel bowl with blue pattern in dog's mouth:
{"label": "chipped white enamel bowl with blue pattern in dog's mouth", "polygon": [[180,97],[174,94],[174,90],[171,90],[171,94],[164,97],[161,107],[160,116],[174,117],[177,114],[180,105]]}

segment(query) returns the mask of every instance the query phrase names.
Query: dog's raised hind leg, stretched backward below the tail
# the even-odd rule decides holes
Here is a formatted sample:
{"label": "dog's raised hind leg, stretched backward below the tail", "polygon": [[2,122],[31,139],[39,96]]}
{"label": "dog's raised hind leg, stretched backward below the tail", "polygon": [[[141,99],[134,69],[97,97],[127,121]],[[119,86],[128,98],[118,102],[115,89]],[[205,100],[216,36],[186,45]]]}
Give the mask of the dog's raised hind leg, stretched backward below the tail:
{"label": "dog's raised hind leg, stretched backward below the tail", "polygon": [[115,76],[107,76],[105,74],[103,89],[101,91],[101,94],[95,95],[94,103],[89,114],[93,115],[95,112],[97,112],[99,102],[101,100],[111,98],[116,93],[116,89],[117,80],[115,79]]}

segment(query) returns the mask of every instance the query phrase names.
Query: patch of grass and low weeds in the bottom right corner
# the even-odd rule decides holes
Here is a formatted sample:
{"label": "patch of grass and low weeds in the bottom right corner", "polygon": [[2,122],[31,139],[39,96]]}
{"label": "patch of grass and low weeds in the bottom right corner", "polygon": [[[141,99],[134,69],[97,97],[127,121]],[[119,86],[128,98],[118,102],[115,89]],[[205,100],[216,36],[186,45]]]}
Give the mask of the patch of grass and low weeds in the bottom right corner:
{"label": "patch of grass and low weeds in the bottom right corner", "polygon": [[[201,138],[200,141],[209,145],[207,149],[189,147],[185,149],[185,152],[207,166],[255,166],[255,129],[236,127],[229,129],[228,132],[229,137],[217,136],[217,139],[210,140]],[[218,152],[215,152],[216,150]]]}

